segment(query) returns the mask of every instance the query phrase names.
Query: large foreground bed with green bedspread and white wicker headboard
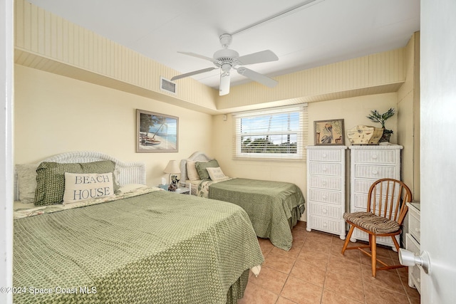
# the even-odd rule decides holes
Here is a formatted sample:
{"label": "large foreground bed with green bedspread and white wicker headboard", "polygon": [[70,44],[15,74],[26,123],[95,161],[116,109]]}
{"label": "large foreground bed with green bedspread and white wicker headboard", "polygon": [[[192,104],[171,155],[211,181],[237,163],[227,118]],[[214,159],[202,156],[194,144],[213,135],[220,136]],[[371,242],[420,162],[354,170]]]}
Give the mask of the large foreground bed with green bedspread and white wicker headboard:
{"label": "large foreground bed with green bedspread and white wicker headboard", "polygon": [[[36,196],[43,167],[106,161],[113,172],[89,173],[111,173],[115,195],[15,202],[14,303],[237,303],[249,269],[258,274],[264,261],[239,206],[147,187],[144,164],[98,152],[45,159],[36,169]],[[16,174],[18,189],[24,179]]]}

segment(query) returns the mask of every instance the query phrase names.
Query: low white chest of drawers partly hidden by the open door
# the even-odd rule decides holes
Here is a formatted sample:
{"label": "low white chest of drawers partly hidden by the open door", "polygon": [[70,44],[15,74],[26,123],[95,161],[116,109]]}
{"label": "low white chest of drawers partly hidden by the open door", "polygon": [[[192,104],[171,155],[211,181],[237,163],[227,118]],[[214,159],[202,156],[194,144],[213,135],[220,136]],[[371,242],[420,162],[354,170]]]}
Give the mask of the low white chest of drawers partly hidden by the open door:
{"label": "low white chest of drawers partly hidden by the open door", "polygon": [[[415,256],[420,255],[420,202],[413,201],[408,205],[408,234],[405,234],[405,248],[412,251]],[[408,267],[408,285],[414,287],[421,293],[421,271],[418,266]]]}

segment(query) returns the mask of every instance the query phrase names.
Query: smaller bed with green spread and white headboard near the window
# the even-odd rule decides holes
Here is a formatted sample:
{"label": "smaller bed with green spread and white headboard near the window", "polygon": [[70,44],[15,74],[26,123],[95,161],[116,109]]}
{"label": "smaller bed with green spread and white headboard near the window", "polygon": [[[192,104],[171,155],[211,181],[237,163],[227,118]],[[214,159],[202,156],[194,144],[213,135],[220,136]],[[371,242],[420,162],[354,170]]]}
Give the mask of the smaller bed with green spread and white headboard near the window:
{"label": "smaller bed with green spread and white headboard near the window", "polygon": [[227,177],[217,160],[204,152],[182,159],[180,171],[181,181],[191,185],[193,195],[242,206],[257,236],[289,251],[291,229],[304,212],[304,196],[296,184]]}

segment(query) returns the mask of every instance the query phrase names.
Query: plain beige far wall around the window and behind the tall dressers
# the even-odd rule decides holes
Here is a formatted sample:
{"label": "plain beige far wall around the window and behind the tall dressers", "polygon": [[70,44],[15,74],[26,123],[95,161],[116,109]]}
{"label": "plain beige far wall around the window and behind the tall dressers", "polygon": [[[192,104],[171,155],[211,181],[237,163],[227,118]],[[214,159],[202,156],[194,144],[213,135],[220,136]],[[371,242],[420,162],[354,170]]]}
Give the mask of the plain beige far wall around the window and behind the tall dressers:
{"label": "plain beige far wall around the window and behind the tall dressers", "polygon": [[[366,95],[356,98],[344,98],[339,100],[327,100],[318,103],[309,103],[309,142],[314,145],[314,120],[340,119],[344,120],[345,129],[351,129],[356,125],[374,125],[366,117],[371,110],[385,112],[389,108],[396,108],[397,94],[386,93],[378,95]],[[257,160],[234,160],[232,159],[232,115],[213,117],[214,124],[214,154],[225,174],[232,177],[244,177],[252,179],[276,180],[281,182],[293,182],[299,186],[306,196],[306,163],[293,161],[264,162]],[[397,116],[391,117],[386,122],[388,129],[397,130]],[[380,127],[378,124],[377,127]],[[346,145],[350,145],[347,138]],[[390,142],[396,143],[395,134]],[[349,167],[347,167],[349,171]],[[348,199],[347,199],[348,206]],[[305,214],[302,218],[305,219]]]}

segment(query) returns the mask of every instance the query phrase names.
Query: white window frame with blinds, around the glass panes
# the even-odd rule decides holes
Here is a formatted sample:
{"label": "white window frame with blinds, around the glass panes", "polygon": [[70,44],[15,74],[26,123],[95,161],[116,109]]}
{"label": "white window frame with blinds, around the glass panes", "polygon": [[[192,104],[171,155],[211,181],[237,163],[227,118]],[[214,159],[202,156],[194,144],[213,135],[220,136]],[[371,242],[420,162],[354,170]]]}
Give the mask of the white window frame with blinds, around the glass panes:
{"label": "white window frame with blinds, around the glass panes", "polygon": [[[304,137],[306,137],[306,130],[308,125],[307,119],[307,104],[292,105],[280,108],[270,108],[263,110],[252,110],[247,112],[238,112],[233,114],[233,138],[234,138],[234,159],[276,159],[276,160],[304,160]],[[272,131],[272,132],[260,132],[259,133],[241,133],[241,124],[240,120],[247,117],[261,117],[264,115],[283,115],[289,112],[298,112],[299,113],[299,130],[293,131]],[[242,142],[241,137],[246,135],[286,135],[296,134],[296,153],[249,153],[241,152]]]}

